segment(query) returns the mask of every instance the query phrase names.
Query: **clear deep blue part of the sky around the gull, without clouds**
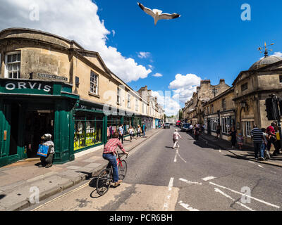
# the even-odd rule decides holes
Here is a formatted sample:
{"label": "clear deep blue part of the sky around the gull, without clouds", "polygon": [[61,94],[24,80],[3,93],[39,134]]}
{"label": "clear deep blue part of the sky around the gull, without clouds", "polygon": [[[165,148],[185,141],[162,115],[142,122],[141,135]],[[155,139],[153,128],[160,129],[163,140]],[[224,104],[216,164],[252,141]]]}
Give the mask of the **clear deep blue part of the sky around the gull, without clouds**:
{"label": "clear deep blue part of the sky around the gull, without clouds", "polygon": [[[116,31],[107,43],[137,63],[154,66],[146,79],[129,83],[133,88],[149,84],[151,89],[166,90],[178,73],[211,79],[212,84],[224,78],[232,85],[241,70],[263,56],[257,48],[264,41],[275,43],[274,52],[282,51],[281,1],[140,1],[148,8],[181,15],[157,26],[135,1],[96,2],[106,28]],[[241,20],[245,3],[251,6],[251,21]],[[139,51],[151,57],[140,59]],[[164,76],[152,77],[155,72]]]}

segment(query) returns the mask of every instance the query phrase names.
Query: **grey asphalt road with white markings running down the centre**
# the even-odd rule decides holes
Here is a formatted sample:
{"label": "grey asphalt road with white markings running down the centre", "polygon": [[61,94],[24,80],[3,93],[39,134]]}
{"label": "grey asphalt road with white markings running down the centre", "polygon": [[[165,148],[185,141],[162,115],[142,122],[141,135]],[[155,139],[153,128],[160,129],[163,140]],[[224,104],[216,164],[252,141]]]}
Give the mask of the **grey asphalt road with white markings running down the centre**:
{"label": "grey asphalt road with white markings running down the centre", "polygon": [[130,152],[125,180],[106,195],[97,195],[92,179],[27,210],[281,210],[282,168],[236,158],[186,133],[173,150],[174,129]]}

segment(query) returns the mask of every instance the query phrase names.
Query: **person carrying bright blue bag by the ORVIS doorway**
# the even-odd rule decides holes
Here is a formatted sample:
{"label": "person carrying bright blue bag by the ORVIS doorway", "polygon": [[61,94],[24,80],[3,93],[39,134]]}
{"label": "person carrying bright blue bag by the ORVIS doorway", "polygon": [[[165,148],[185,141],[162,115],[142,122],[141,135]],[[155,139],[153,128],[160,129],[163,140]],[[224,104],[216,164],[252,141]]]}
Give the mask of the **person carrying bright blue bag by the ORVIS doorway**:
{"label": "person carrying bright blue bag by the ORVIS doorway", "polygon": [[53,157],[55,153],[54,142],[51,141],[51,134],[44,134],[41,139],[43,141],[42,146],[48,147],[47,156],[40,156],[40,164],[38,167],[49,168],[53,165]]}

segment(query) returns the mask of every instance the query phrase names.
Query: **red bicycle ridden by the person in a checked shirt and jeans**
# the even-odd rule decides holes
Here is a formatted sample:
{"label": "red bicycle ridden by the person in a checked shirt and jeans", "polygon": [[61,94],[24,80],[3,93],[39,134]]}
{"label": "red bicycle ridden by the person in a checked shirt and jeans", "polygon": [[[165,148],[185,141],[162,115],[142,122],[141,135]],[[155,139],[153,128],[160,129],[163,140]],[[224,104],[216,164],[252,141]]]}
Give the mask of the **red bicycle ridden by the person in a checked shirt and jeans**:
{"label": "red bicycle ridden by the person in a checked shirt and jeans", "polygon": [[[121,155],[126,155],[125,159],[128,158],[127,154],[118,153],[118,158],[116,159],[116,161],[118,165],[118,179],[119,180],[125,179],[125,175],[128,169],[127,162],[121,159]],[[100,196],[106,194],[109,191],[111,183],[114,183],[113,167],[108,166],[105,169],[103,169],[102,172],[99,173],[99,176],[97,178],[97,183],[96,183],[97,193]]]}

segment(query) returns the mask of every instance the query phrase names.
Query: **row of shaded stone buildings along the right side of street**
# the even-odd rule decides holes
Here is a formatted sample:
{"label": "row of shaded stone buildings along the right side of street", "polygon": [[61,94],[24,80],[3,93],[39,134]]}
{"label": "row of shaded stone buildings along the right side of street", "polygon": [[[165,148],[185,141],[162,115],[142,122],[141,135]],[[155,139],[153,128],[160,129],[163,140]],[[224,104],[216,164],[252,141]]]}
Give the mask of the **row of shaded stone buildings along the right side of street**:
{"label": "row of shaded stone buildings along the right side of street", "polygon": [[190,101],[185,103],[183,118],[192,124],[206,125],[207,134],[216,136],[221,127],[221,137],[227,139],[228,131],[235,127],[245,137],[245,144],[252,145],[250,131],[268,127],[265,100],[269,94],[282,97],[282,58],[264,56],[249,70],[240,72],[228,86],[224,79],[218,85],[203,80]]}

